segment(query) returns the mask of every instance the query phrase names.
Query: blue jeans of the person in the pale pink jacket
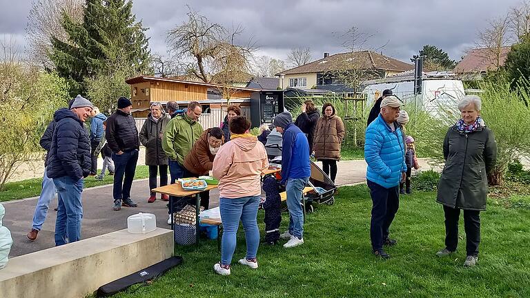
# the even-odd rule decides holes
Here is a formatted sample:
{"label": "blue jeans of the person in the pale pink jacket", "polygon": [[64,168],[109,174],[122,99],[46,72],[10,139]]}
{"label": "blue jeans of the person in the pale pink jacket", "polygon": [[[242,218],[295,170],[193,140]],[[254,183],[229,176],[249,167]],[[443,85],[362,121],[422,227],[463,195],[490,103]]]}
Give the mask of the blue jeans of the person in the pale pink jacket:
{"label": "blue jeans of the person in the pale pink jacket", "polygon": [[259,246],[259,228],[257,227],[257,206],[259,196],[240,197],[238,199],[219,198],[219,211],[223,222],[221,243],[221,264],[230,265],[235,251],[239,220],[243,223],[246,239],[246,259],[255,259]]}

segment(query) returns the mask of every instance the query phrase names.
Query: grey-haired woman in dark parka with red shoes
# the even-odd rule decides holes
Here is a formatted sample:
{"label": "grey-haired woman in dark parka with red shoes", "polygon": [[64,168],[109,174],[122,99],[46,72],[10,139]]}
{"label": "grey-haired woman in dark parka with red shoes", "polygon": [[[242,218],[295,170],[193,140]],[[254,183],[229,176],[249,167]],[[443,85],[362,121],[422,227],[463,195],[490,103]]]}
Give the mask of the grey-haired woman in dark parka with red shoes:
{"label": "grey-haired woman in dark parka with red shoes", "polygon": [[[162,149],[162,136],[170,120],[164,112],[161,103],[151,103],[151,112],[147,116],[144,126],[139,133],[140,143],[146,147],[146,166],[149,166],[148,203],[156,201],[157,197],[153,188],[157,188],[157,172],[160,175],[160,186],[168,185],[168,157]],[[169,201],[168,195],[161,195],[162,201]]]}

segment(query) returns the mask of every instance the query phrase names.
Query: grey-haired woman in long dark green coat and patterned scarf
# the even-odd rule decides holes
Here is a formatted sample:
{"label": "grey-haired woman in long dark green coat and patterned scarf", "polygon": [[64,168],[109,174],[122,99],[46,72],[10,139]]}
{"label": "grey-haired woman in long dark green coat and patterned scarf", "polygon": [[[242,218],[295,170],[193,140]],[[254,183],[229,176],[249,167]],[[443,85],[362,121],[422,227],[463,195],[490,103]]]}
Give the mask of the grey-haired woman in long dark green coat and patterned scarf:
{"label": "grey-haired woman in long dark green coat and patterned scarf", "polygon": [[478,261],[480,211],[486,210],[487,174],[497,159],[495,137],[480,117],[481,108],[482,101],[475,95],[468,95],[458,103],[462,118],[447,130],[444,139],[445,166],[436,199],[444,206],[445,215],[445,248],[436,255],[444,257],[456,251],[462,209],[466,267],[475,266]]}

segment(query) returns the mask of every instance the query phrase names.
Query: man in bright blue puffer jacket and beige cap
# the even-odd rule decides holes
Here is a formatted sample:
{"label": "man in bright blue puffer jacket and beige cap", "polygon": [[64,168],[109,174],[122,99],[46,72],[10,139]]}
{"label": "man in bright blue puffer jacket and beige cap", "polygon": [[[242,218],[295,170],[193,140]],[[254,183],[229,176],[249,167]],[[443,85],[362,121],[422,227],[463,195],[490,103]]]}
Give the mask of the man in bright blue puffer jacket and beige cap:
{"label": "man in bright blue puffer jacket and beige cap", "polygon": [[372,197],[370,238],[373,253],[388,259],[383,245],[393,246],[389,239],[389,227],[400,206],[400,179],[405,179],[403,132],[397,124],[402,103],[397,97],[385,97],[381,102],[380,115],[366,128],[364,159],[368,163],[366,183]]}

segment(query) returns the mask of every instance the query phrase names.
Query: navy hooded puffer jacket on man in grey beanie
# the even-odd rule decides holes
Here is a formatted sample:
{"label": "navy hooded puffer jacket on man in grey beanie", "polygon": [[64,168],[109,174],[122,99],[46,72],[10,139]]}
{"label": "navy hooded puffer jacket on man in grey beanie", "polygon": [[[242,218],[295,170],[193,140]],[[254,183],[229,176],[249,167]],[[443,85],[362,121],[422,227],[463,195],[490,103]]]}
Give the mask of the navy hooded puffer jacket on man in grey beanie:
{"label": "navy hooded puffer jacket on man in grey beanie", "polygon": [[67,108],[54,116],[57,126],[53,133],[46,174],[50,178],[70,176],[75,181],[90,174],[90,139],[84,125]]}

